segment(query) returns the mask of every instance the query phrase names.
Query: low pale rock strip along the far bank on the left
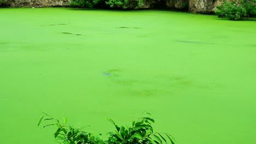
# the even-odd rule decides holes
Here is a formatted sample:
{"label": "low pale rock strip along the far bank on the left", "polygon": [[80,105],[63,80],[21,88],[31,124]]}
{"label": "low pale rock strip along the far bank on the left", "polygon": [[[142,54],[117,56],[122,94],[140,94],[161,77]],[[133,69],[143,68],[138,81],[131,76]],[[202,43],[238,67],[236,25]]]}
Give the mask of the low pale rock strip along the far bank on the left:
{"label": "low pale rock strip along the far bank on the left", "polygon": [[11,7],[66,7],[70,0],[13,0]]}

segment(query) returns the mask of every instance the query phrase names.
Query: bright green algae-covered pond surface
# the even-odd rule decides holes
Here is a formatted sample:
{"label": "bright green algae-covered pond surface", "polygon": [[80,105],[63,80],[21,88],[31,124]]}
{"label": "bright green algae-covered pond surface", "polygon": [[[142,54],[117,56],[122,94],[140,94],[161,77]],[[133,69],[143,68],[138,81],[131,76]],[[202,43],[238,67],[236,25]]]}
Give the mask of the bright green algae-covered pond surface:
{"label": "bright green algae-covered pond surface", "polygon": [[41,112],[105,135],[152,113],[180,144],[255,144],[256,22],[173,11],[0,9],[1,143]]}

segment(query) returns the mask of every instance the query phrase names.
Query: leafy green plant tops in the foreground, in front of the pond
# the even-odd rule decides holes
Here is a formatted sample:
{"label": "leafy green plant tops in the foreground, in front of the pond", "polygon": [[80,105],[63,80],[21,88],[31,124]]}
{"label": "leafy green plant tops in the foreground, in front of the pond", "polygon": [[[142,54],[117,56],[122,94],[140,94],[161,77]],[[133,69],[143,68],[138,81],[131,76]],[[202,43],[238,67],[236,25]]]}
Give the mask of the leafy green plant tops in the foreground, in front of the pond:
{"label": "leafy green plant tops in the foreground, in front of the pond", "polygon": [[[149,113],[147,113],[150,115]],[[142,114],[143,116],[144,114]],[[40,118],[38,127],[42,122],[50,121],[49,124],[45,124],[43,128],[50,125],[57,127],[54,137],[57,142],[62,144],[161,144],[172,143],[174,139],[171,135],[165,133],[153,133],[152,123],[154,119],[150,117],[141,117],[137,121],[133,121],[131,127],[119,127],[115,122],[108,118],[108,120],[114,125],[115,131],[110,132],[108,140],[103,141],[100,136],[95,136],[92,133],[88,133],[82,129],[67,126],[67,119],[63,118],[61,123],[58,119],[55,119],[46,113]]]}

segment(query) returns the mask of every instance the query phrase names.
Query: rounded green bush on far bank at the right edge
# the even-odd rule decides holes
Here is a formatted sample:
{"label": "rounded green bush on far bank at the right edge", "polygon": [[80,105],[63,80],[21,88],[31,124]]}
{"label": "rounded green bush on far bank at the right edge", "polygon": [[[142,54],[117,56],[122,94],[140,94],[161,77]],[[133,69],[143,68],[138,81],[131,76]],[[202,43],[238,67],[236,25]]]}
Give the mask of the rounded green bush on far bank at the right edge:
{"label": "rounded green bush on far bank at the right edge", "polygon": [[241,20],[244,17],[256,17],[256,1],[223,1],[217,6],[216,14],[218,17],[230,20]]}

